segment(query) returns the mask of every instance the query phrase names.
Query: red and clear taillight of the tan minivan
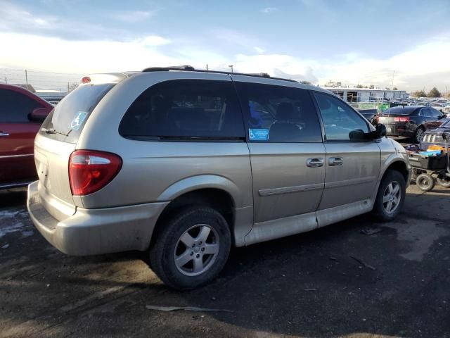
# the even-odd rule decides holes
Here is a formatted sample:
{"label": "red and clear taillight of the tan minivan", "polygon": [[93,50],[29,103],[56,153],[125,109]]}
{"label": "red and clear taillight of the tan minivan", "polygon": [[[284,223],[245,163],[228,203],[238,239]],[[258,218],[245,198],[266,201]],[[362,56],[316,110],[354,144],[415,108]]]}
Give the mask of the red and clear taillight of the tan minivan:
{"label": "red and clear taillight of the tan minivan", "polygon": [[111,182],[122,167],[122,158],[103,151],[77,150],[70,155],[72,195],[92,194]]}

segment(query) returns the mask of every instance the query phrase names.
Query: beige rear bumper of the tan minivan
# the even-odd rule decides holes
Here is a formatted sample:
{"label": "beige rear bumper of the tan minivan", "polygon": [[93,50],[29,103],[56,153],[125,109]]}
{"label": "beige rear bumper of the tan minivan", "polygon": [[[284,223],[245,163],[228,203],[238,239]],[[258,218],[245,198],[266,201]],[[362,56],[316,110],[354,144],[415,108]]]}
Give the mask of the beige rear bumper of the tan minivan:
{"label": "beige rear bumper of the tan minivan", "polygon": [[76,208],[57,220],[39,195],[38,182],[28,186],[27,209],[35,227],[56,249],[73,256],[146,250],[158,216],[169,202],[116,208]]}

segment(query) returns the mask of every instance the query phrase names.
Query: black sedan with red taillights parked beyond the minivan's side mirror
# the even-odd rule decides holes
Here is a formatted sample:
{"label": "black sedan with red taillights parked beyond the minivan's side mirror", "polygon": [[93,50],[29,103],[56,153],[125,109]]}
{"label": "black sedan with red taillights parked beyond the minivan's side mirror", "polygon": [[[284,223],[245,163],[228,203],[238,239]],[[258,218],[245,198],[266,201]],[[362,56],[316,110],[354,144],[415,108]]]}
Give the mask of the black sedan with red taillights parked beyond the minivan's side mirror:
{"label": "black sedan with red taillights parked beyond the minivan's side mirror", "polygon": [[420,143],[423,133],[442,125],[444,118],[444,113],[432,107],[398,106],[383,111],[378,123],[386,126],[389,136],[409,137],[412,142]]}

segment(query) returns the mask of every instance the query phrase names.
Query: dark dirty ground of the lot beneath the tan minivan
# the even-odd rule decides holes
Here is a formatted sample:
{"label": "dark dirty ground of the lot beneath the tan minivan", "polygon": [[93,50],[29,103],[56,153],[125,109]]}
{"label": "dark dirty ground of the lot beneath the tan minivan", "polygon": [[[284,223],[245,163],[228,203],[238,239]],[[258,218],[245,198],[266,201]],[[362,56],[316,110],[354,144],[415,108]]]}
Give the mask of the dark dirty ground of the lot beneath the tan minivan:
{"label": "dark dirty ground of the lot beneath the tan minivan", "polygon": [[26,192],[0,192],[0,337],[450,337],[450,189],[407,193],[392,223],[362,215],[234,249],[212,284],[174,292],[144,253],[58,252]]}

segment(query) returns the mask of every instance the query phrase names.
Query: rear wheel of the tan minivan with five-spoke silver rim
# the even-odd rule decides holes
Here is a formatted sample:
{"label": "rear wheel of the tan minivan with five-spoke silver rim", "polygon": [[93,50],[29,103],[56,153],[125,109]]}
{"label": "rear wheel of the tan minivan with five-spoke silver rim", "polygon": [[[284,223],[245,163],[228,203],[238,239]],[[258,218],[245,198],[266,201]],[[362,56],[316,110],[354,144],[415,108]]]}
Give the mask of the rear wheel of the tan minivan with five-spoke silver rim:
{"label": "rear wheel of the tan minivan with five-spoke silver rim", "polygon": [[195,289],[219,275],[231,249],[224,217],[210,207],[185,208],[160,224],[150,266],[169,287]]}

